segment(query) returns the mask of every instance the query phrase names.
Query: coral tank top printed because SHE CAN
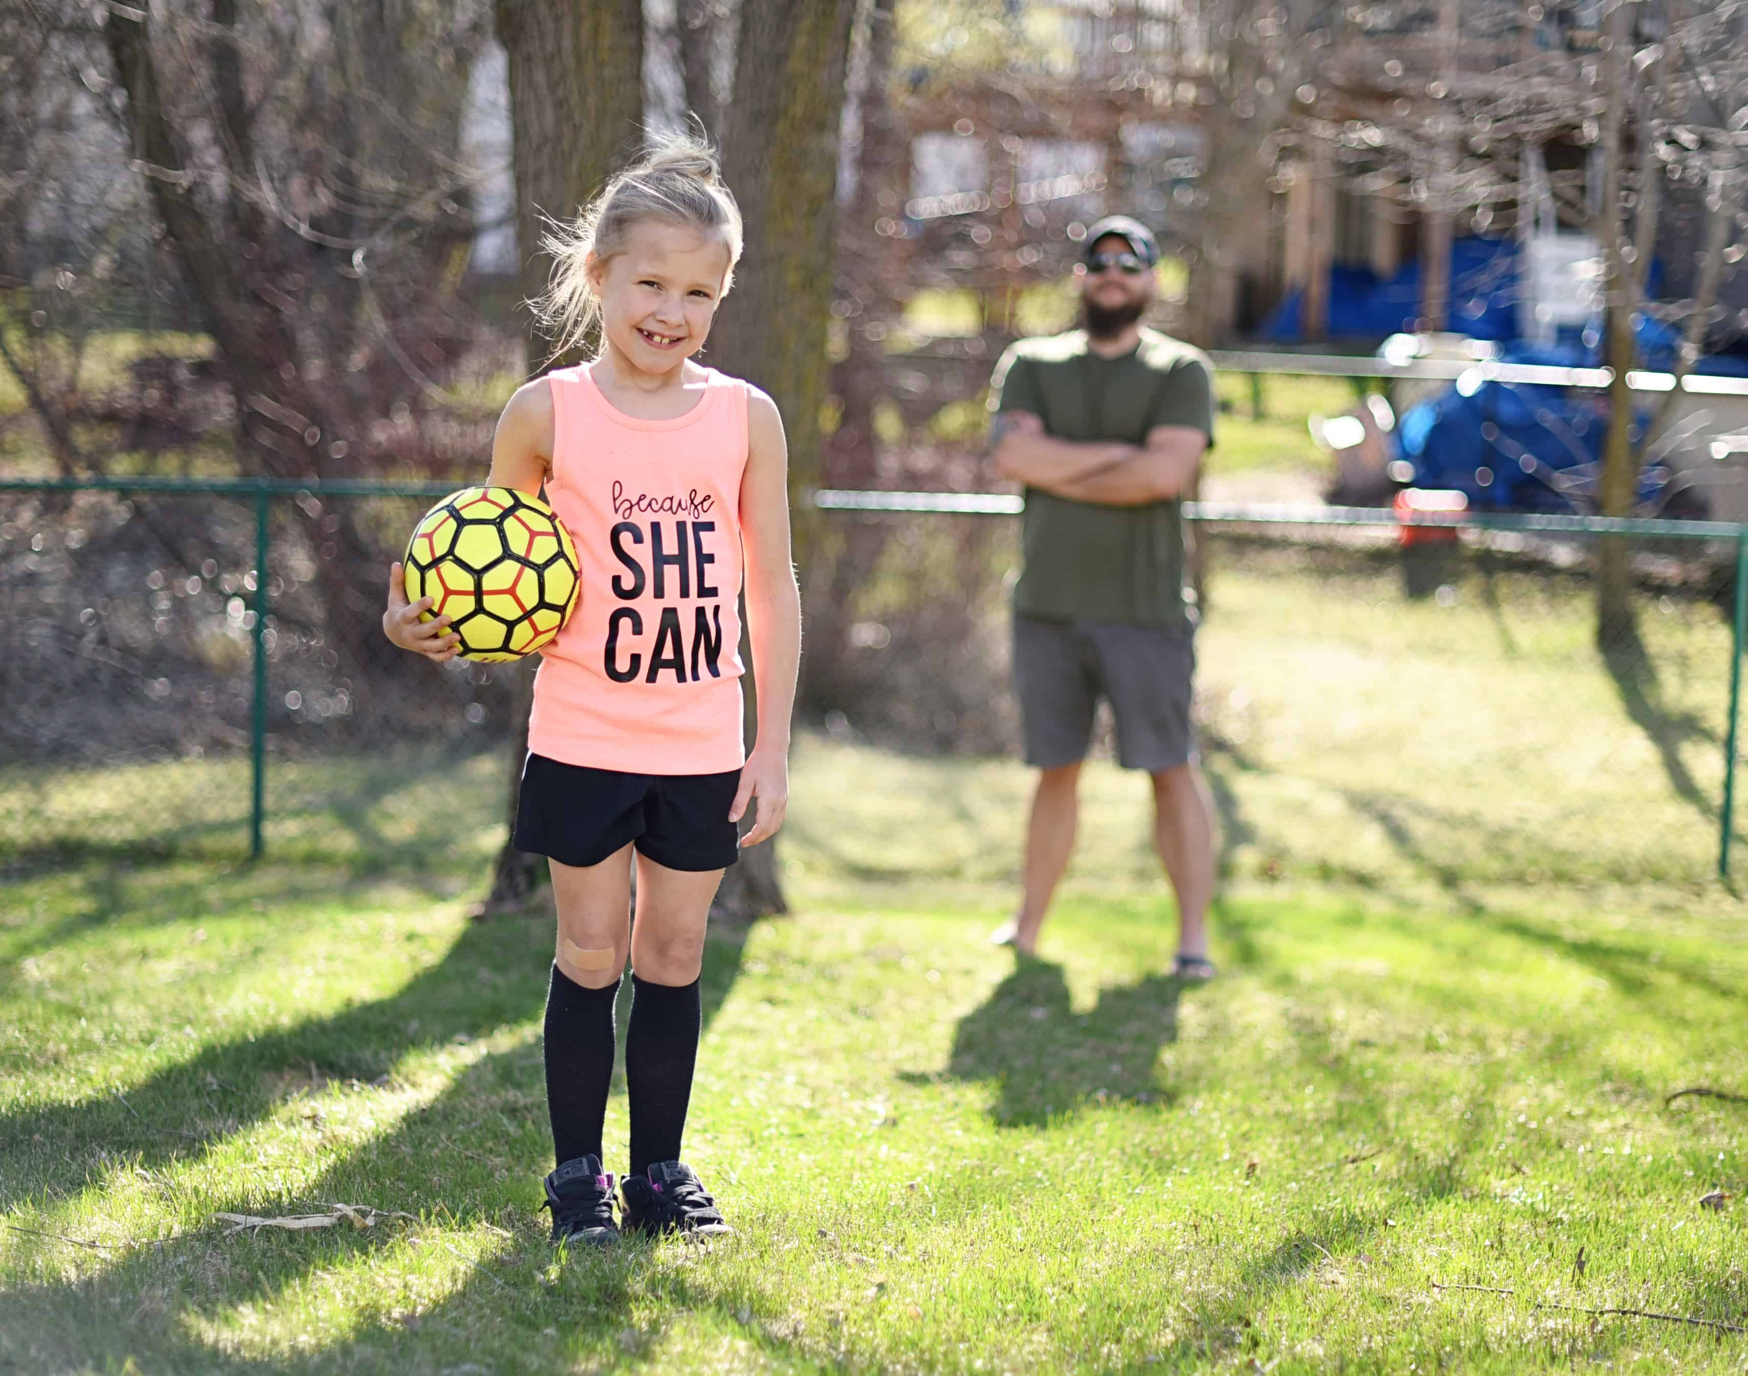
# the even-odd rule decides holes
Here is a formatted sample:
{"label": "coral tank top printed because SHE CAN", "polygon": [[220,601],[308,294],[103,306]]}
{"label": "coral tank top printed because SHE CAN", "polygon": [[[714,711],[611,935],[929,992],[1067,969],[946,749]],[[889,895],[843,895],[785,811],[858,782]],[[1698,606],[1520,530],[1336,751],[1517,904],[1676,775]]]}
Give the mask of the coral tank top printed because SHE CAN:
{"label": "coral tank top printed because SHE CAN", "polygon": [[528,748],[635,775],[720,775],[741,736],[746,383],[706,369],[683,416],[619,411],[589,367],[556,369],[545,497],[582,594],[542,650]]}

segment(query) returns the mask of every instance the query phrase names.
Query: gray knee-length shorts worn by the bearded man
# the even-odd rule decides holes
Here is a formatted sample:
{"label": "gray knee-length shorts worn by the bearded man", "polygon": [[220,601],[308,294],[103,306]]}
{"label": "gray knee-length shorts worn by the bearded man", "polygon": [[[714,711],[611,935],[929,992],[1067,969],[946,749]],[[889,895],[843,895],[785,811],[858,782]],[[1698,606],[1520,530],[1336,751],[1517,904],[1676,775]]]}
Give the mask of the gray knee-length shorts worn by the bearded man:
{"label": "gray knee-length shorts worn by the bearded man", "polygon": [[1124,769],[1176,769],[1196,759],[1190,678],[1196,626],[1126,621],[1014,617],[1014,680],[1019,689],[1026,764],[1058,769],[1086,759],[1098,699],[1117,719]]}

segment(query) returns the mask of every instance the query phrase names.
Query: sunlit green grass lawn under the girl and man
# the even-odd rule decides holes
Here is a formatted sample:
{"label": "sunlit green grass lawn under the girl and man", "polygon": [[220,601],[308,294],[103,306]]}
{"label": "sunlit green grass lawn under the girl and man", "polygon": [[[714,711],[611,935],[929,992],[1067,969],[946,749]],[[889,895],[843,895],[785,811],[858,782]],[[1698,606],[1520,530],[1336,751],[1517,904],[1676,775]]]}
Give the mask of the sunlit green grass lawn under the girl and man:
{"label": "sunlit green grass lawn under the girl and man", "polygon": [[[1715,614],[1652,603],[1634,678],[1545,579],[1215,587],[1224,976],[1159,976],[1140,780],[1089,769],[1016,965],[1024,771],[804,736],[795,911],[706,951],[710,1248],[545,1243],[551,918],[465,920],[496,761],[306,764],[259,867],[234,764],[7,773],[0,1373],[1741,1373],[1592,1313],[1748,1327],[1748,1105],[1666,1103],[1748,1095]],[[217,1220],[336,1201],[411,1217]]]}

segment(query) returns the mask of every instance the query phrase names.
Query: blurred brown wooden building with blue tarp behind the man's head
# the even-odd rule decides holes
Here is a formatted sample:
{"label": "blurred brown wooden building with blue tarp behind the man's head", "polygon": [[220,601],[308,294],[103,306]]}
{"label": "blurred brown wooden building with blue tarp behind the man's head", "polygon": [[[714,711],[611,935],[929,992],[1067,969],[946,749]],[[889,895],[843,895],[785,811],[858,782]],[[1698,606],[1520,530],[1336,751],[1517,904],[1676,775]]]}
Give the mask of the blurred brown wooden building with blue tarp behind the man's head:
{"label": "blurred brown wooden building with blue tarp behind the man's head", "polygon": [[[1227,19],[1246,9],[1288,16],[1290,31],[1234,37]],[[1580,82],[1601,10],[1009,0],[1012,42],[993,65],[972,42],[954,51],[951,30],[909,56],[907,157],[883,173],[902,205],[883,233],[904,280],[977,292],[1000,329],[1003,302],[1065,271],[1080,227],[1108,210],[1190,261],[1210,252],[1211,150],[1243,150],[1257,159],[1248,205],[1196,280],[1206,343],[1416,323],[1550,337],[1594,309],[1582,219],[1599,189],[1584,112],[1596,87]],[[1655,42],[1661,3],[1636,10],[1640,42]],[[1259,73],[1255,96],[1227,79],[1239,63]],[[1671,189],[1657,245],[1671,290],[1690,276],[1697,219],[1682,196]]]}

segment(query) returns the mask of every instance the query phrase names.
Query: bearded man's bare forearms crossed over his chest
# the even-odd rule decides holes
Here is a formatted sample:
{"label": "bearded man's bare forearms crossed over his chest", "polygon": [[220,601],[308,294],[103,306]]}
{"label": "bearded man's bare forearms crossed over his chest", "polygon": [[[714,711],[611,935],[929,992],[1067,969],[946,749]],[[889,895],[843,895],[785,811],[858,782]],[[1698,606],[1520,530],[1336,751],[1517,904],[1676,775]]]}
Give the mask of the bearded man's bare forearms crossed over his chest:
{"label": "bearded man's bare forearms crossed over his chest", "polygon": [[998,413],[989,423],[989,441],[1002,477],[1106,507],[1140,507],[1182,495],[1208,448],[1208,435],[1192,425],[1155,425],[1140,446],[1052,439],[1030,411]]}

